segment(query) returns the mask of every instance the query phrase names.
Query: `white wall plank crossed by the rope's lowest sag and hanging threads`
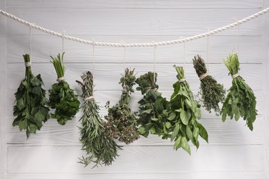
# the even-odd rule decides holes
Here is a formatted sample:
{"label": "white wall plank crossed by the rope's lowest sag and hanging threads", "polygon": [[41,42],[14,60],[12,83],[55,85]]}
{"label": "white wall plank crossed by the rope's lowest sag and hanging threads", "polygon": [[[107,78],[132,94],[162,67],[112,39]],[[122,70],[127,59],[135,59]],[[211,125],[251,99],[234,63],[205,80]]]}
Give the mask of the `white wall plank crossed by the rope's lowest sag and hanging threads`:
{"label": "white wall plank crossed by the rope's lowest sag and hanging threads", "polygon": [[[92,36],[79,36],[81,39],[92,39]],[[209,63],[222,63],[223,59],[232,52],[237,52],[237,36],[210,36]],[[8,35],[7,52],[8,63],[22,63],[22,54],[29,53],[29,34]],[[95,41],[126,43],[151,43],[179,39],[179,36],[94,36]],[[250,43],[251,42],[251,43]],[[200,54],[207,61],[207,38],[190,41],[186,46],[186,63]],[[239,36],[240,63],[262,63],[261,36]],[[66,63],[91,63],[92,47],[73,41],[64,41]],[[32,62],[49,63],[50,55],[62,52],[62,40],[50,35],[32,36]],[[123,63],[123,48],[96,47],[94,48],[95,63]],[[157,48],[158,63],[182,63],[184,59],[183,43],[167,45]],[[126,63],[152,63],[153,48],[126,48]]]}

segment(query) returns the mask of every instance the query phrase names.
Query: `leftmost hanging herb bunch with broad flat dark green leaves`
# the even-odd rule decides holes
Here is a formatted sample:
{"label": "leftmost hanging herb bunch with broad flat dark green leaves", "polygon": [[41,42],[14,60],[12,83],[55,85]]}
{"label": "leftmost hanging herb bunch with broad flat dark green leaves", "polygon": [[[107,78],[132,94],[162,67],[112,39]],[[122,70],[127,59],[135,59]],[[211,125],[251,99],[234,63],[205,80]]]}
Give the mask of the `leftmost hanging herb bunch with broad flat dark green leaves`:
{"label": "leftmost hanging herb bunch with broad flat dark green leaves", "polygon": [[41,75],[34,76],[30,67],[29,54],[23,55],[26,64],[26,76],[21,81],[17,92],[16,105],[13,107],[13,115],[17,116],[12,125],[18,125],[19,130],[26,130],[26,136],[35,134],[40,130],[50,115],[48,112],[48,101],[46,99],[46,90],[42,89],[43,81]]}

